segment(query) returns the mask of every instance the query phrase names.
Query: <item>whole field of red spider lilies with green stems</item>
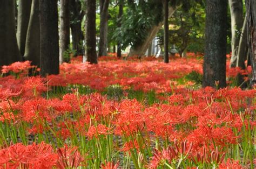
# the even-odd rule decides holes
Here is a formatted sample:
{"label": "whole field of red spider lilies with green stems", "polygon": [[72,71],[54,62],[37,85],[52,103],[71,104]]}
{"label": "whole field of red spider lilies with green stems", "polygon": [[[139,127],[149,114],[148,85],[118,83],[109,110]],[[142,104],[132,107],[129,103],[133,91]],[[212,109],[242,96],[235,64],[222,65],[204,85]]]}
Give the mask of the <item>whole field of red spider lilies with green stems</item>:
{"label": "whole field of red spider lilies with green stems", "polygon": [[[0,168],[254,168],[255,89],[200,87],[202,60],[101,57],[0,78]],[[245,83],[247,78],[245,78]]]}

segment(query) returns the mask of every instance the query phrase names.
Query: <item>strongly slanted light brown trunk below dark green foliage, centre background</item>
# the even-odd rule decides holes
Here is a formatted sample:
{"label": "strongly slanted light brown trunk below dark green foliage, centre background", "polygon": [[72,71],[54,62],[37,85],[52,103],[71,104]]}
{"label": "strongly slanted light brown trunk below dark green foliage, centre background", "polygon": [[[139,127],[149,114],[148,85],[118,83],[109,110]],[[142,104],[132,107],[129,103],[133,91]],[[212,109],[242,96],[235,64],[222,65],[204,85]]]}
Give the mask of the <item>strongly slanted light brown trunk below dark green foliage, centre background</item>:
{"label": "strongly slanted light brown trunk below dark green foliage, centre background", "polygon": [[[173,15],[175,10],[176,9],[173,9],[171,6],[169,7],[169,12],[168,12],[169,18]],[[134,55],[138,57],[144,56],[152,40],[154,39],[154,37],[156,37],[157,33],[159,32],[159,30],[163,25],[164,25],[164,22],[160,22],[158,25],[152,26],[152,29],[149,30],[149,34],[147,35],[147,38],[144,40],[143,44],[131,50],[128,57],[134,56]]]}

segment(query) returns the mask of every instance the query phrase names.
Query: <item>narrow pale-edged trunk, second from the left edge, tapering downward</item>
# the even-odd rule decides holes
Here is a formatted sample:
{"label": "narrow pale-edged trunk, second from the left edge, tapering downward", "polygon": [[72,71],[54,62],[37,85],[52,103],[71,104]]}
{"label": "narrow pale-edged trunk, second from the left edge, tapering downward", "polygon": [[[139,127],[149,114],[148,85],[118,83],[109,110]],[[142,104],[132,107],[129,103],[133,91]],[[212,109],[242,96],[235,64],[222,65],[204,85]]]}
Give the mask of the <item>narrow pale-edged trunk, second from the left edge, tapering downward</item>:
{"label": "narrow pale-edged trunk, second from the left edge, tapering downward", "polygon": [[18,25],[17,25],[17,41],[19,51],[23,56],[25,53],[26,32],[29,26],[29,17],[31,11],[32,0],[19,0],[18,6]]}

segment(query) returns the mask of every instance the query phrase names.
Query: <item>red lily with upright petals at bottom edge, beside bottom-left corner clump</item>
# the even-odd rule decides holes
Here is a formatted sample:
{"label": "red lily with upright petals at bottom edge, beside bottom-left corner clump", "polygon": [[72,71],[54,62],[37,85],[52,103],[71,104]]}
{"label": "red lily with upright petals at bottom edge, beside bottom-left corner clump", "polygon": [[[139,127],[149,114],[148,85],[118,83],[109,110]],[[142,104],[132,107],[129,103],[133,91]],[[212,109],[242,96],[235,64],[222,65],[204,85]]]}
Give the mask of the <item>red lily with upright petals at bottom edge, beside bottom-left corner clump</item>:
{"label": "red lily with upright petals at bottom edge, beside bottom-left corner clump", "polygon": [[58,160],[56,166],[58,168],[77,168],[84,160],[79,153],[77,147],[69,148],[65,145],[64,148],[57,150]]}

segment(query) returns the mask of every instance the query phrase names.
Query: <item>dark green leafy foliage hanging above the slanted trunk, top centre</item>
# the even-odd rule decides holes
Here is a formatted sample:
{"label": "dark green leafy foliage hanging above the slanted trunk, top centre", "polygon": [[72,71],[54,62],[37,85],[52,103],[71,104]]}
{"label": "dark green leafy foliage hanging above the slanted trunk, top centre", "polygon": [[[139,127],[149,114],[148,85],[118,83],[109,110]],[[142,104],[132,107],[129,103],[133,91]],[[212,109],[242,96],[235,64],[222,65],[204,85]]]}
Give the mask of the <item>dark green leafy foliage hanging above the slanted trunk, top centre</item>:
{"label": "dark green leafy foliage hanging above the slanted trunk, top centre", "polygon": [[117,41],[122,42],[123,48],[142,44],[151,27],[163,18],[163,4],[160,1],[129,2],[124,11],[122,26],[113,34]]}

